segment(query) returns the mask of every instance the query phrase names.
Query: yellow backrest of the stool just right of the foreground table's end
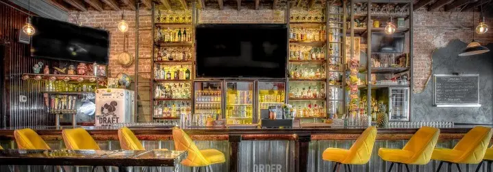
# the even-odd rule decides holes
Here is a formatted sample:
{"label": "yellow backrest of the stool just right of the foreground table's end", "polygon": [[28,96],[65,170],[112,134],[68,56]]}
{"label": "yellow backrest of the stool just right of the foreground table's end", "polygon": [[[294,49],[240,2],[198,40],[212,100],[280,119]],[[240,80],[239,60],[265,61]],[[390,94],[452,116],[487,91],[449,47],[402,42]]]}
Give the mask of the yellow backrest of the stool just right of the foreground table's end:
{"label": "yellow backrest of the stool just right of the foreground table's end", "polygon": [[188,156],[182,164],[190,164],[191,167],[201,167],[209,165],[210,162],[205,159],[201,151],[195,145],[192,138],[184,130],[178,127],[173,128],[173,140],[175,141],[175,150],[187,151]]}

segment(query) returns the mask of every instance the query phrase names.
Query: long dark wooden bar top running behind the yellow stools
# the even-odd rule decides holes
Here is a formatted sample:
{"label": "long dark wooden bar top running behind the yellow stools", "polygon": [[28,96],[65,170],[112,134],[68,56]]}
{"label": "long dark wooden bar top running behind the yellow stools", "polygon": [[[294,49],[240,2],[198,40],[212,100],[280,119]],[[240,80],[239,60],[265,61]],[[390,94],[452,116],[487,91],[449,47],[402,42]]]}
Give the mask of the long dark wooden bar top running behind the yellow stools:
{"label": "long dark wooden bar top running behind the yellow stools", "polygon": [[[173,140],[172,126],[129,127],[140,140]],[[474,125],[456,125],[440,129],[440,138],[462,138]],[[0,130],[0,140],[14,140],[14,130]],[[37,126],[30,127],[45,140],[62,140],[62,130],[73,126]],[[118,140],[118,127],[84,127],[95,140]],[[184,129],[194,140],[228,140],[229,136],[241,136],[242,140],[296,140],[300,135],[311,136],[312,140],[353,140],[366,127],[303,127],[285,129],[260,128],[192,128]],[[418,128],[378,128],[377,139],[409,139]]]}

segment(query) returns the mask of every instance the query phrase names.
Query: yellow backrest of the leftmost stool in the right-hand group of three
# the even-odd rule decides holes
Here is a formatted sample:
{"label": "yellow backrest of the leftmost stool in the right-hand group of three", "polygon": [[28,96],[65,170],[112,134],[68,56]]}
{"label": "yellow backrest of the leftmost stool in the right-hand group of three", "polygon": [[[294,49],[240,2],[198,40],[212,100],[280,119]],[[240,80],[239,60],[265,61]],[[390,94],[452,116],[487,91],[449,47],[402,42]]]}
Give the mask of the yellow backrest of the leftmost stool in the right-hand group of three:
{"label": "yellow backrest of the leftmost stool in the right-hand group of three", "polygon": [[377,128],[373,126],[366,128],[349,149],[351,153],[343,163],[366,164],[371,158],[375,138],[377,138]]}

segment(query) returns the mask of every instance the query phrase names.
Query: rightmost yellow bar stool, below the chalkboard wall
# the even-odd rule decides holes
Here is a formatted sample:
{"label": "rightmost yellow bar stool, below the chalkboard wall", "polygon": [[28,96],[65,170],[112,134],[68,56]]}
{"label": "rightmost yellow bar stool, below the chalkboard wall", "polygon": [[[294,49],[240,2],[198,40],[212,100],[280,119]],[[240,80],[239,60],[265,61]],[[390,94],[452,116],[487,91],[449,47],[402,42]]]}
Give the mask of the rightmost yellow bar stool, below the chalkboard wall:
{"label": "rightmost yellow bar stool, below the chalkboard wall", "polygon": [[491,137],[492,129],[490,127],[474,127],[459,140],[453,149],[435,148],[431,159],[440,160],[437,171],[440,171],[443,162],[446,162],[449,172],[452,171],[452,164],[455,164],[460,172],[462,170],[459,164],[478,164],[483,160]]}

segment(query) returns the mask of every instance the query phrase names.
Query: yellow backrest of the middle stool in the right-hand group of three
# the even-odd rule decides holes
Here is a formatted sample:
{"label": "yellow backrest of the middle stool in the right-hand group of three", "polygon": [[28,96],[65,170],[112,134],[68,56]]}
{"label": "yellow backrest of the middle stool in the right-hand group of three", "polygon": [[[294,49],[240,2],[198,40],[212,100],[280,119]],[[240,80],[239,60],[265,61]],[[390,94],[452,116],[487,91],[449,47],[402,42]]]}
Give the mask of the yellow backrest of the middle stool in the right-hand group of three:
{"label": "yellow backrest of the middle stool in the right-hand group of three", "polygon": [[407,164],[428,164],[431,154],[440,136],[440,129],[434,127],[421,127],[407,141],[404,150],[411,151],[413,156],[407,160]]}

